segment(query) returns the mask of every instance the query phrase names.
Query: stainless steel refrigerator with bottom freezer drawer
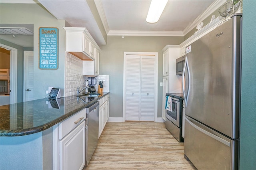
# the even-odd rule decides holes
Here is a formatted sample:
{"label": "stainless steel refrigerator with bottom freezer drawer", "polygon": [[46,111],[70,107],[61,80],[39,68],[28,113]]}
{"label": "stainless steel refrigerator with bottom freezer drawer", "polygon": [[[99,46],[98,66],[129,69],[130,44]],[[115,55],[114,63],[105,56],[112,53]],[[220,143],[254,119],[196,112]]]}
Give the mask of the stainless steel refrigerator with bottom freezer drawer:
{"label": "stainless steel refrigerator with bottom freezer drawer", "polygon": [[239,169],[241,40],[234,14],[186,47],[184,157],[198,170]]}

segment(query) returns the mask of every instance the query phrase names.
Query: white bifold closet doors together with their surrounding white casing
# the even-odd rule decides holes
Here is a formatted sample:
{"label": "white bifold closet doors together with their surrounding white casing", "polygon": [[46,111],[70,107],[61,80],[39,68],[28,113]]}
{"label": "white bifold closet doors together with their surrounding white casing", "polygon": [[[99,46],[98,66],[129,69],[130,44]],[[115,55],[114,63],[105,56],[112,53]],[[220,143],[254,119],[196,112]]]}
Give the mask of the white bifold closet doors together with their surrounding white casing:
{"label": "white bifold closet doors together with their surrounding white casing", "polygon": [[157,121],[158,53],[124,52],[123,121]]}

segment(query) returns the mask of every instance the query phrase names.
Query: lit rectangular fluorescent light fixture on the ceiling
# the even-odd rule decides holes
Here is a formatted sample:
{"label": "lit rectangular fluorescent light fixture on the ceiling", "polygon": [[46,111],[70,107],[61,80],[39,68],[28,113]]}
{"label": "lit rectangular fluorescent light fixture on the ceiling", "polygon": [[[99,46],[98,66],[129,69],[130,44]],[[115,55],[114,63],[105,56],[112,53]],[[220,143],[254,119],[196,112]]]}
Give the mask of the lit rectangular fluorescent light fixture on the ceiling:
{"label": "lit rectangular fluorescent light fixture on the ceiling", "polygon": [[168,0],[151,0],[151,4],[148,10],[148,16],[146,22],[156,23],[158,22]]}

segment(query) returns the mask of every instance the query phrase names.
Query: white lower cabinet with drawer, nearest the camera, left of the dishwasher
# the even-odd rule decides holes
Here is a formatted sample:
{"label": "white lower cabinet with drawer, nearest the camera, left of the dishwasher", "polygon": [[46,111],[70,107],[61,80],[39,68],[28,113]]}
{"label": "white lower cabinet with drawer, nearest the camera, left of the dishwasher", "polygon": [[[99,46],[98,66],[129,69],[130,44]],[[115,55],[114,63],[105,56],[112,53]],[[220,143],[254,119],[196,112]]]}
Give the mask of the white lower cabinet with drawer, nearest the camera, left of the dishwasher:
{"label": "white lower cabinet with drawer, nearest the camera, left of the dishwasher", "polygon": [[85,165],[85,109],[59,123],[59,169],[82,170]]}

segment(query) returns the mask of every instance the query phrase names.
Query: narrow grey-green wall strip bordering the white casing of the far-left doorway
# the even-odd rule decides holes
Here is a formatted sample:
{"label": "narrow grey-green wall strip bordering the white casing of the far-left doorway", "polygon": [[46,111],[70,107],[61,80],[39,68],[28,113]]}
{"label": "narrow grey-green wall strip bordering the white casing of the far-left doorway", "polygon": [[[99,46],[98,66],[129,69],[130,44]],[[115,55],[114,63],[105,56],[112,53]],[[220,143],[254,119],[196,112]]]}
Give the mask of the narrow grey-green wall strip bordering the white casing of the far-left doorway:
{"label": "narrow grey-green wall strip bordering the white casing of the far-left doorway", "polygon": [[23,47],[2,39],[0,43],[17,49],[17,103],[23,102]]}

